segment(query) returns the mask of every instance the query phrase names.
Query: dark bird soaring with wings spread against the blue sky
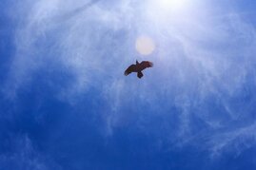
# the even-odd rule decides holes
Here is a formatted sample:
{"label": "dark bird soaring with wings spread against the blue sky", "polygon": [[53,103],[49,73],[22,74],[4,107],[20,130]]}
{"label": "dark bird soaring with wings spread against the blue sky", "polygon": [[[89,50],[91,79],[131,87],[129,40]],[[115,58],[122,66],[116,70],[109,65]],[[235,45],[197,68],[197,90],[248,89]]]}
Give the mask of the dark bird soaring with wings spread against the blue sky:
{"label": "dark bird soaring with wings spread against the blue sky", "polygon": [[146,69],[148,67],[152,67],[152,66],[153,66],[152,62],[143,61],[143,62],[139,63],[136,60],[136,65],[128,66],[127,70],[125,71],[125,76],[128,76],[128,74],[130,74],[132,72],[137,72],[137,77],[139,79],[141,79],[143,77],[142,70],[144,70],[144,69]]}

